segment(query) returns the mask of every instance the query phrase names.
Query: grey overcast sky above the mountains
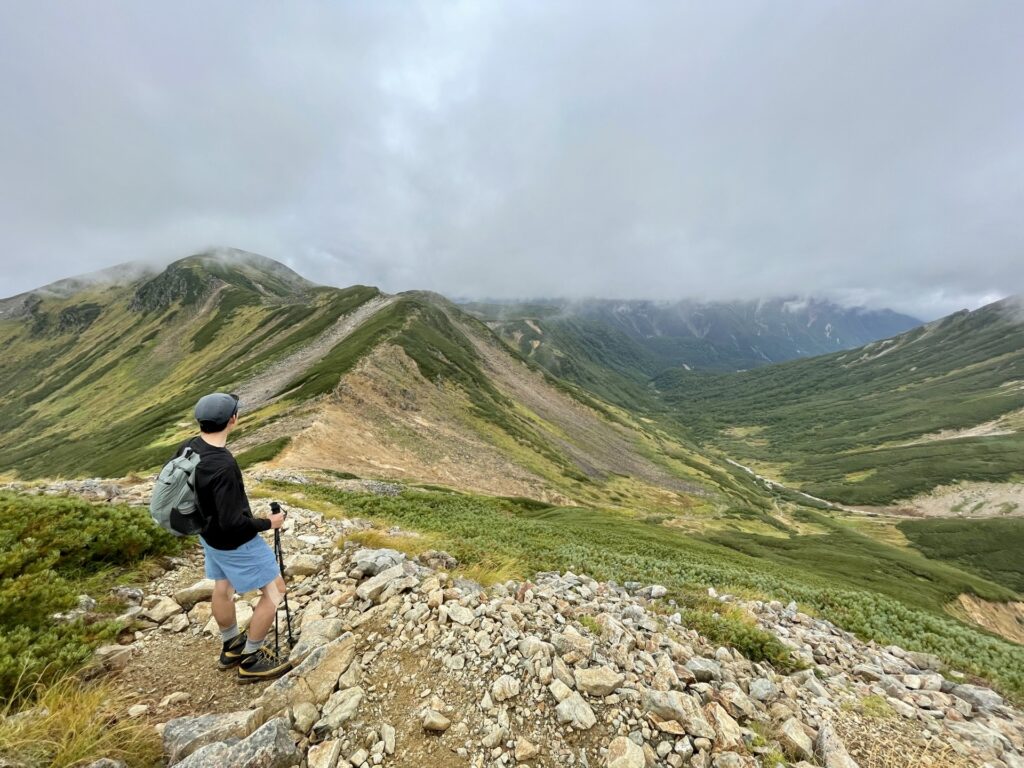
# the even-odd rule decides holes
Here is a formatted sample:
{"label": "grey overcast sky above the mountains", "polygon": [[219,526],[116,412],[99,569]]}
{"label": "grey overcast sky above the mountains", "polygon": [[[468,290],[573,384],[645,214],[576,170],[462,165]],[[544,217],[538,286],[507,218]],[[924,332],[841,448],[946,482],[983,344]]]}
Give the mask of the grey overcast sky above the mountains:
{"label": "grey overcast sky above the mountains", "polygon": [[454,297],[1024,292],[1024,3],[0,4],[0,296],[210,246]]}

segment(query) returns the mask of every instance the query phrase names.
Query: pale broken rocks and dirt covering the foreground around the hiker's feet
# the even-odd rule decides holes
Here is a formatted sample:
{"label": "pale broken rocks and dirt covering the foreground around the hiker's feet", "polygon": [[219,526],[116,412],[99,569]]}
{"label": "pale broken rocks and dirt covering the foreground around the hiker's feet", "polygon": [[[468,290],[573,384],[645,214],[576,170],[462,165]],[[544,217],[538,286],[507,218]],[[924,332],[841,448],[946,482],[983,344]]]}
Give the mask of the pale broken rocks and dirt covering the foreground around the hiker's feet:
{"label": "pale broken rocks and dirt covering the foreground around the hiker's feet", "polygon": [[[205,708],[201,690],[158,680],[158,713],[181,713],[157,725],[166,765],[1024,767],[1024,716],[996,692],[795,603],[712,591],[793,650],[801,669],[782,671],[709,642],[658,585],[543,572],[482,587],[453,578],[442,552],[343,543],[368,526],[290,511],[294,668]],[[190,583],[200,558],[137,596],[134,633],[100,649],[98,671],[127,674],[195,638],[209,656],[195,666],[201,689],[217,679],[210,585]]]}

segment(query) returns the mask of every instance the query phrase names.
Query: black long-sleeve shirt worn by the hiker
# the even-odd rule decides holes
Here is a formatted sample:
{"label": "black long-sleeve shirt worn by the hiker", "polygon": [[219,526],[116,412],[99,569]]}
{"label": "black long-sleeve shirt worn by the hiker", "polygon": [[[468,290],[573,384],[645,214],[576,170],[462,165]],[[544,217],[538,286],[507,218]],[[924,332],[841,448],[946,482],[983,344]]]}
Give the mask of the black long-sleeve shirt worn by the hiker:
{"label": "black long-sleeve shirt worn by the hiker", "polygon": [[200,455],[196,498],[200,509],[210,518],[203,540],[214,549],[238,549],[260,531],[269,530],[269,520],[253,517],[242,470],[231,452],[211,445],[197,435],[182,442],[175,456],[180,456],[185,445]]}

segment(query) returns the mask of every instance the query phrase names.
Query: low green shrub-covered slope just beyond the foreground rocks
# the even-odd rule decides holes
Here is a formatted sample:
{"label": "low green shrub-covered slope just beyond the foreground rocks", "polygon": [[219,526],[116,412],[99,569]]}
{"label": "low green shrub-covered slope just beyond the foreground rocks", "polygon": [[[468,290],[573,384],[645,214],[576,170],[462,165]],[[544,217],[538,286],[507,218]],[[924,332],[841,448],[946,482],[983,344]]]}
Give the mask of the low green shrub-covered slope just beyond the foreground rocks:
{"label": "low green shrub-covered slope just beyond the foreground rocks", "polygon": [[664,584],[676,594],[720,591],[796,599],[840,626],[882,643],[938,653],[951,666],[1024,696],[1024,648],[944,613],[961,592],[1013,597],[1006,588],[914,552],[880,544],[842,522],[805,511],[826,536],[797,537],[783,548],[759,537],[693,537],[656,520],[601,508],[557,508],[438,490],[394,498],[316,485],[301,490],[348,515],[427,532],[432,546],[466,564],[498,564],[506,574],[571,569],[598,579]]}

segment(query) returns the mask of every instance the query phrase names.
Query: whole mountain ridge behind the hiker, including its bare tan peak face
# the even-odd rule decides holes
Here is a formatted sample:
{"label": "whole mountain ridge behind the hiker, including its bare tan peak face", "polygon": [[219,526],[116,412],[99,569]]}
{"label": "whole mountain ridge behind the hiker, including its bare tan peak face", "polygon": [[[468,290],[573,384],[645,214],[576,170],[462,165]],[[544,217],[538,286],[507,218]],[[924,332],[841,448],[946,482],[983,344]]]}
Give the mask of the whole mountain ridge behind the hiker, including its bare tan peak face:
{"label": "whole mountain ridge behind the hiker, including its bare tan peak face", "polygon": [[240,252],[125,271],[0,302],[0,473],[153,471],[219,389],[242,398],[243,465],[653,510],[770,506],[742,473],[530,367],[435,294],[314,286]]}

